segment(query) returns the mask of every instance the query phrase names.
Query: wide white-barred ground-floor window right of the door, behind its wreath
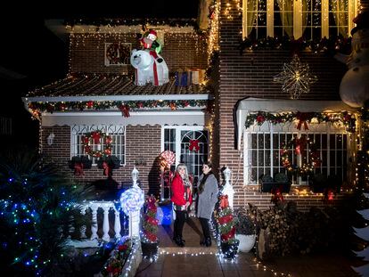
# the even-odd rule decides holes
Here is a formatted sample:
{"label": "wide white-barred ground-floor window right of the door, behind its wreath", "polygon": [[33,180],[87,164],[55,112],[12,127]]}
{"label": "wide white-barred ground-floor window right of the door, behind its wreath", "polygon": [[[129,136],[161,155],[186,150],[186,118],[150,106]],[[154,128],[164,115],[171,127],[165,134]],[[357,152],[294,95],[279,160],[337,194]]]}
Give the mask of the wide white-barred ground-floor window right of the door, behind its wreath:
{"label": "wide white-barred ground-floor window right of the door, behind its wreath", "polygon": [[[348,134],[339,127],[321,123],[309,126],[309,130],[299,132],[291,126],[270,125],[250,126],[244,133],[244,180],[246,184],[257,184],[261,175],[275,176],[286,173],[281,163],[281,149],[293,137],[305,135],[316,147],[321,165],[315,174],[337,175],[342,181],[348,179]],[[308,147],[308,146],[307,146]],[[291,164],[301,166],[309,159],[307,147],[298,156],[294,149],[288,149]],[[292,183],[307,184],[307,177],[293,175]]]}

